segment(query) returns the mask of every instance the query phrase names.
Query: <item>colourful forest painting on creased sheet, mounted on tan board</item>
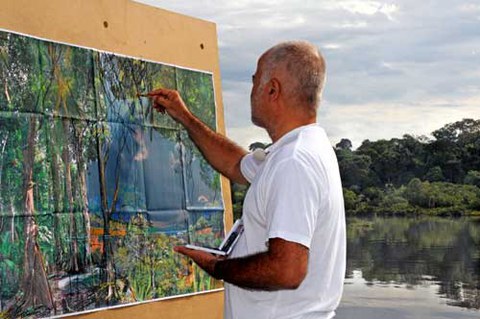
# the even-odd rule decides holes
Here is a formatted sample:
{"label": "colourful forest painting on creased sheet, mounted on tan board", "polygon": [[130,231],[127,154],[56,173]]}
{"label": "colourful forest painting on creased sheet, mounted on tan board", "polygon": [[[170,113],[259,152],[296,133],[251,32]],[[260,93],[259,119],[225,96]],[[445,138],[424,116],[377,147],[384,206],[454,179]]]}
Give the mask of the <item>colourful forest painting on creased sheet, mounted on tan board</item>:
{"label": "colourful forest painting on creased sheet, mounted on tan board", "polygon": [[178,244],[224,236],[220,176],[152,112],[180,91],[215,129],[209,73],[0,32],[0,318],[219,285]]}

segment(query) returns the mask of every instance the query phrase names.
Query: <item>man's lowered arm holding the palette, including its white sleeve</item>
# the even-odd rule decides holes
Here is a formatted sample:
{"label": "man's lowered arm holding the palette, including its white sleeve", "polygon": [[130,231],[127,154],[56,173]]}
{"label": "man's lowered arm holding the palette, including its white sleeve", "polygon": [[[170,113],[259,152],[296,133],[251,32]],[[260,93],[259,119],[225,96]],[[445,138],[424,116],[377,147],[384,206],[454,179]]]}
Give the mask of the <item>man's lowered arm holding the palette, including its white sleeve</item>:
{"label": "man's lowered arm holding the palette, including its white sleeve", "polygon": [[[308,166],[287,158],[276,166],[265,197],[268,224],[266,252],[233,259],[177,247],[217,279],[259,290],[296,289],[308,270],[320,189]],[[245,235],[245,234],[244,234]]]}

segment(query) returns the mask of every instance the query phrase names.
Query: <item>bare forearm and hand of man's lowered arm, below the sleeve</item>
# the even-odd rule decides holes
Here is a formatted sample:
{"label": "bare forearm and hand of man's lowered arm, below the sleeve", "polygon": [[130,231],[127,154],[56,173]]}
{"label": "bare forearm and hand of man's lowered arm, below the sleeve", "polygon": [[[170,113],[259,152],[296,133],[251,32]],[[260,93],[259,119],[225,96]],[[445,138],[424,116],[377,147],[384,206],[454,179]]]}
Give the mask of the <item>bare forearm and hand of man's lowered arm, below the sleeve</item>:
{"label": "bare forearm and hand of man's lowered arm, below the sleeve", "polygon": [[307,274],[308,248],[281,238],[271,238],[266,252],[233,259],[185,247],[175,250],[192,258],[212,277],[247,289],[296,289]]}

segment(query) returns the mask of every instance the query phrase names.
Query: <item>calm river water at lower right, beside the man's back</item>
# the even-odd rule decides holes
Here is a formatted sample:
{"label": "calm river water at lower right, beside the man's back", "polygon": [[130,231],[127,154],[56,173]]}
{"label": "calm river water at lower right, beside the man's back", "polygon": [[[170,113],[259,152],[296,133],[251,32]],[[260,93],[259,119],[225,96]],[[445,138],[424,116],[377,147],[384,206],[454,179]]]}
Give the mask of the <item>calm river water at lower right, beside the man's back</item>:
{"label": "calm river water at lower right, beside the man's back", "polygon": [[480,318],[480,218],[347,219],[336,319]]}

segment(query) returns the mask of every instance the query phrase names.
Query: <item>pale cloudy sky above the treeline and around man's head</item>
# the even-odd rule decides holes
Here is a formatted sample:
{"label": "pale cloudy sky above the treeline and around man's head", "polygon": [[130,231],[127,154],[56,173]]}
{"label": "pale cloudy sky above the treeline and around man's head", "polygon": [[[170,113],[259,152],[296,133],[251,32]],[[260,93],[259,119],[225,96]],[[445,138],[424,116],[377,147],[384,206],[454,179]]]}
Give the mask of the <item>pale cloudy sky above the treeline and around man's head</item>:
{"label": "pale cloudy sky above the treeline and around man's head", "polygon": [[332,145],[425,135],[480,119],[479,0],[138,0],[216,23],[227,136],[269,142],[250,122],[258,57],[307,40],[327,61],[318,122]]}

